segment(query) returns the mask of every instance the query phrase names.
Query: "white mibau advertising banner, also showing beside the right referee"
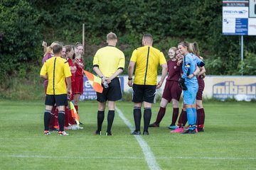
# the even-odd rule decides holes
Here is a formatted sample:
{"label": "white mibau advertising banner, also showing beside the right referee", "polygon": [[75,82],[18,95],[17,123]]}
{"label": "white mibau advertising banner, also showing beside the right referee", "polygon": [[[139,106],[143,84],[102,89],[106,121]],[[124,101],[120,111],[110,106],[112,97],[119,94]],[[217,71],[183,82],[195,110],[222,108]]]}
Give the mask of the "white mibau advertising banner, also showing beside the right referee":
{"label": "white mibau advertising banner, also showing beside the right referee", "polygon": [[[127,81],[128,77],[124,76],[124,91],[132,91]],[[237,101],[256,100],[256,76],[206,76],[204,81],[203,98],[218,98],[222,101],[227,98],[235,98]],[[162,94],[164,85],[165,81],[157,94]]]}

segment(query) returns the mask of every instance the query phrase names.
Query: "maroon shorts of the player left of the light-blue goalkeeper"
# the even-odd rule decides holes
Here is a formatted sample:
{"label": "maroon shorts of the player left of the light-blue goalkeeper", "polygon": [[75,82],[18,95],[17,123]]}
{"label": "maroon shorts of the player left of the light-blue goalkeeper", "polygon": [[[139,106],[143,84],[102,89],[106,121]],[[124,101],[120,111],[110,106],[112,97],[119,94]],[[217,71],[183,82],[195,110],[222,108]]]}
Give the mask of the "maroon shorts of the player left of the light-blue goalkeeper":
{"label": "maroon shorts of the player left of the light-blue goalkeeper", "polygon": [[179,98],[181,97],[181,92],[182,89],[180,86],[178,86],[178,81],[166,81],[162,98],[165,98],[169,102],[172,98],[179,101]]}

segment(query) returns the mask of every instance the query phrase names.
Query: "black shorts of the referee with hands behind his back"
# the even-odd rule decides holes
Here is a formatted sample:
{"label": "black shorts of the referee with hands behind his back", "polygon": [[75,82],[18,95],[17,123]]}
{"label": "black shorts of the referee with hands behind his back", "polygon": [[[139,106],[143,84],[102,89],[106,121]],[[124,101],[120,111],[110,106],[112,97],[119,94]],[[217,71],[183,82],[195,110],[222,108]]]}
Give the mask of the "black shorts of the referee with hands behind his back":
{"label": "black shorts of the referee with hands behind his back", "polygon": [[122,98],[121,86],[118,77],[112,79],[111,83],[108,85],[109,87],[105,88],[102,84],[102,94],[97,93],[97,101],[100,103],[105,101],[118,101]]}

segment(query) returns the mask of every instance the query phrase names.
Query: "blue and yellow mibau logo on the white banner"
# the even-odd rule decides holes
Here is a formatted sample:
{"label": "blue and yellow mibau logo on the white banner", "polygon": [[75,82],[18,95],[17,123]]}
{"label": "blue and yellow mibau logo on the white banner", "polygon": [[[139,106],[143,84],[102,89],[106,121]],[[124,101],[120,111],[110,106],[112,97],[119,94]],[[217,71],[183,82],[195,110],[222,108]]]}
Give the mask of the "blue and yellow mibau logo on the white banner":
{"label": "blue and yellow mibau logo on the white banner", "polygon": [[221,100],[235,98],[238,101],[256,99],[256,83],[235,85],[234,81],[224,81],[213,85],[213,97]]}

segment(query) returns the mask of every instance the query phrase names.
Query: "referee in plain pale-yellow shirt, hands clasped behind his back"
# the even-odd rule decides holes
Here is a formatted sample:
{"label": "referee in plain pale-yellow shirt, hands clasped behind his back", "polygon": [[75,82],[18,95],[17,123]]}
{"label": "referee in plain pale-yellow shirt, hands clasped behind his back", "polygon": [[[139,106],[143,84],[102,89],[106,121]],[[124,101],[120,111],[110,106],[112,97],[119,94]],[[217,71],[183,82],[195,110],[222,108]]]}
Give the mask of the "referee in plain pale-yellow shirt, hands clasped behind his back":
{"label": "referee in plain pale-yellow shirt, hands clasped behind his back", "polygon": [[[101,135],[102,123],[105,116],[106,102],[108,101],[107,132],[106,135],[112,135],[111,128],[114,121],[115,101],[122,98],[121,86],[118,75],[124,69],[124,53],[117,47],[117,35],[107,34],[107,47],[97,50],[93,59],[93,70],[101,77],[103,86],[102,94],[97,93],[98,112],[97,112],[97,130],[95,135]],[[107,84],[107,85],[106,85]]]}

